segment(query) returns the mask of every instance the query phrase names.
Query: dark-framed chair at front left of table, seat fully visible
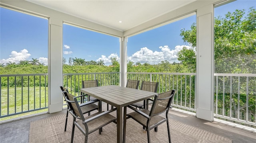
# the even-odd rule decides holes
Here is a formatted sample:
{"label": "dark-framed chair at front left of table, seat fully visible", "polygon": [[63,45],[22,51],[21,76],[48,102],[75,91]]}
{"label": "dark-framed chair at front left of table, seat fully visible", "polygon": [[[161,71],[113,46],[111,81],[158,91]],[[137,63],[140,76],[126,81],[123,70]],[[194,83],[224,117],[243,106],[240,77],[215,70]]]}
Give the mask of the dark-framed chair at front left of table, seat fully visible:
{"label": "dark-framed chair at front left of table, seat fully visible", "polygon": [[[106,112],[100,111],[90,116],[84,117],[82,110],[80,108],[80,105],[78,104],[77,97],[73,96],[68,92],[63,92],[63,93],[66,97],[66,101],[70,106],[69,112],[73,115],[73,126],[72,126],[72,135],[71,135],[70,143],[73,143],[75,126],[84,134],[85,136],[84,143],[87,143],[88,135],[90,133],[96,130],[99,130],[99,134],[101,134],[102,127],[104,127],[105,125],[108,125],[111,122],[116,121],[116,118],[109,114],[110,112],[115,111],[116,108],[112,110],[108,110]],[[90,102],[94,102],[94,101],[90,101]],[[85,104],[87,103],[88,102],[86,102]],[[78,120],[76,121],[76,119]]]}

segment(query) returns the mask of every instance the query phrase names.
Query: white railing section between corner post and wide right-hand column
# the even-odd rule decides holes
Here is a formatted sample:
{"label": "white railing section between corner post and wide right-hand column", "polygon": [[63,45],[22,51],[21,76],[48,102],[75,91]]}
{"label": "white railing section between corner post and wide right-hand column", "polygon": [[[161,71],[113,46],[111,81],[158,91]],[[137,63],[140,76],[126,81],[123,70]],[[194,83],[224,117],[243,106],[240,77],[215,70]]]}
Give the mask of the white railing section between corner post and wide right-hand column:
{"label": "white railing section between corner post and wide right-hand column", "polygon": [[[176,90],[172,106],[196,112],[196,73],[127,72],[127,79],[159,82],[158,93]],[[140,86],[139,86],[140,89]]]}

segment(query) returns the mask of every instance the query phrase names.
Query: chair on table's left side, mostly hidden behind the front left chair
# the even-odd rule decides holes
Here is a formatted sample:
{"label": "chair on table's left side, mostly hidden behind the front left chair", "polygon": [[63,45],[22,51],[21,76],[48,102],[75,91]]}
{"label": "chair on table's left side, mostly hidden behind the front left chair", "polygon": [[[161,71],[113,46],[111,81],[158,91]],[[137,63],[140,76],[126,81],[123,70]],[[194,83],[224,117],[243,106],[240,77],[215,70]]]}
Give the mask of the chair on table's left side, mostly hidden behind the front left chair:
{"label": "chair on table's left side, mostly hidden behind the front left chair", "polygon": [[[63,94],[63,92],[68,92],[68,89],[64,88],[63,86],[60,86],[60,90],[62,91],[62,94]],[[66,101],[66,98],[65,98],[64,94],[63,94],[63,96],[64,96],[64,100]],[[80,96],[78,96],[77,98],[80,98]],[[90,113],[91,111],[101,109],[96,104],[93,104],[95,102],[99,102],[99,100],[94,100],[92,102],[86,102],[86,104],[80,104],[79,106],[80,106],[80,108],[82,110],[82,113],[86,114],[86,113]],[[64,129],[64,131],[66,131],[66,128],[67,128],[68,112],[71,110],[67,101],[66,101],[66,103],[67,103],[68,107],[67,107],[67,114],[66,114],[66,122],[65,122],[65,129]],[[98,104],[98,105],[100,105],[100,104]]]}

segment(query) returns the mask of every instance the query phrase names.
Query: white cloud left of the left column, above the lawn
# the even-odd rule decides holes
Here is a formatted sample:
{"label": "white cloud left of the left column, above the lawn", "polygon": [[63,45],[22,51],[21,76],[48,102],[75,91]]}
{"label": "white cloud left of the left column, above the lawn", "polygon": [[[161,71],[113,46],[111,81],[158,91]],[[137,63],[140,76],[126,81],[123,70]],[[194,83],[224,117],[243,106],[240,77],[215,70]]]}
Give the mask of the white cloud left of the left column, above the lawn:
{"label": "white cloud left of the left column, above the lawn", "polygon": [[12,51],[10,58],[1,59],[0,63],[4,63],[4,64],[9,63],[9,62],[19,63],[20,61],[27,60],[30,56],[31,56],[31,54],[28,53],[27,49],[23,49],[20,52]]}

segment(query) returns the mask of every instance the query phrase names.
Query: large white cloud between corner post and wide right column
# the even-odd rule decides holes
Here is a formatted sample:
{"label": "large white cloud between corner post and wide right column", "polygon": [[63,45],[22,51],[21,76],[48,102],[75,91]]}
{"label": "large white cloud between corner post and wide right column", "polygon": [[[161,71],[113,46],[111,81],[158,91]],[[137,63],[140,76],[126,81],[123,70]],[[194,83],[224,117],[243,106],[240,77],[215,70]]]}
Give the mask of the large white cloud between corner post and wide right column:
{"label": "large white cloud between corner post and wide right column", "polygon": [[169,61],[170,63],[179,63],[177,53],[183,48],[189,47],[187,45],[177,45],[174,50],[171,50],[167,45],[160,46],[161,51],[152,51],[147,47],[143,47],[132,56],[128,57],[128,61],[134,64],[140,62],[141,64],[148,63],[150,65],[158,64],[161,61]]}

